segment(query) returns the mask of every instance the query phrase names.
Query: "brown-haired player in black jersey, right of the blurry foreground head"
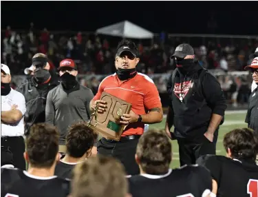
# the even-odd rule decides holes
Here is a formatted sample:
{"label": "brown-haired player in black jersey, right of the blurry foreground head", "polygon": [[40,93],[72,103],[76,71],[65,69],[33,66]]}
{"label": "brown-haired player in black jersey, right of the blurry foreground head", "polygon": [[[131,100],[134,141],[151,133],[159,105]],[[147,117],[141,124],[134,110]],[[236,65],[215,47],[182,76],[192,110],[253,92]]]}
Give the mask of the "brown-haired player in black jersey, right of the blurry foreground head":
{"label": "brown-haired player in black jersey, right of the blurry foreground head", "polygon": [[171,142],[165,132],[149,130],[144,133],[136,149],[140,175],[129,176],[132,196],[196,197],[216,194],[216,188],[211,193],[213,183],[208,170],[197,165],[169,169],[171,158]]}

